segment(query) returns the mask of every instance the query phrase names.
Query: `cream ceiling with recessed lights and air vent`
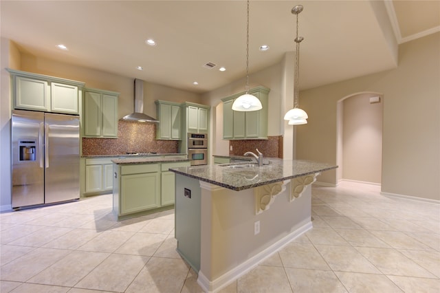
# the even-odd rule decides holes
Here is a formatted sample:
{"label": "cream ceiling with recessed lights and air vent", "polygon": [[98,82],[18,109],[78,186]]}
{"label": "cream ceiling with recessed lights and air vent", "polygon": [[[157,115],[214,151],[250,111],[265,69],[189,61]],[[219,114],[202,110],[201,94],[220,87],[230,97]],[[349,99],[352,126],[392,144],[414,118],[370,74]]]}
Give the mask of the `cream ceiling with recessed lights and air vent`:
{"label": "cream ceiling with recessed lights and air vent", "polygon": [[[440,1],[253,0],[250,73],[294,50],[296,4],[302,89],[391,69],[393,43],[440,31]],[[0,8],[1,36],[35,56],[197,93],[245,76],[246,1],[2,0]],[[260,52],[263,44],[270,50]]]}

